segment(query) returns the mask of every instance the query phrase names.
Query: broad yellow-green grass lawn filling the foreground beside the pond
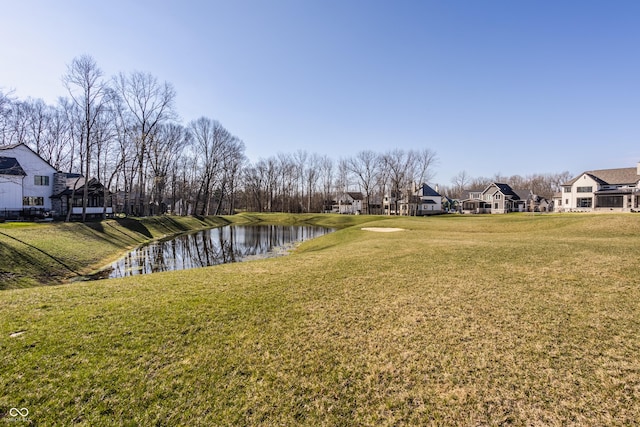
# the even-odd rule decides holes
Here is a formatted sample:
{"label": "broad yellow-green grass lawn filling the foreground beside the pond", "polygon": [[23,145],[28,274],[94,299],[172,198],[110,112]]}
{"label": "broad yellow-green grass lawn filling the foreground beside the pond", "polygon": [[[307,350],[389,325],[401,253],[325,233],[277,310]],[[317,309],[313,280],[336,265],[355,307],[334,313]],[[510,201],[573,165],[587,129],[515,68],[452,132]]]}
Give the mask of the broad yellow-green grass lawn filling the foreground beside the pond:
{"label": "broad yellow-green grass lawn filling the foreground beside the pond", "polygon": [[[281,217],[237,220],[264,218]],[[351,226],[287,257],[0,292],[0,416],[28,408],[34,424],[88,426],[640,419],[640,216],[318,219]]]}

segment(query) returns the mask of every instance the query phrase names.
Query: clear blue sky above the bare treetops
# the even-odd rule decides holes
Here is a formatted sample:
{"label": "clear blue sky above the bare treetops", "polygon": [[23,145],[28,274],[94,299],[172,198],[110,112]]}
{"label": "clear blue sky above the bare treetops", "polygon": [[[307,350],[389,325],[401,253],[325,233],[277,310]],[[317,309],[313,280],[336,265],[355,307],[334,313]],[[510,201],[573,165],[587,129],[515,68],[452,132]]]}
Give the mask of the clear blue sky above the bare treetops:
{"label": "clear blue sky above the bare treetops", "polygon": [[145,71],[252,161],[434,150],[432,184],[635,166],[640,1],[1,0],[0,88]]}

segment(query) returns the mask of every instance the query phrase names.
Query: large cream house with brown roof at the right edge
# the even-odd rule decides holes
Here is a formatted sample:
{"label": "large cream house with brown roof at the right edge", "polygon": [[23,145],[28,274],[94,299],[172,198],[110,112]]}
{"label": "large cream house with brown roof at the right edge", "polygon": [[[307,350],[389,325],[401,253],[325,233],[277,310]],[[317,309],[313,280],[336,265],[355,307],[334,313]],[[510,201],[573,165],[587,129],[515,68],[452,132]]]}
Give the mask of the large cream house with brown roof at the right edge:
{"label": "large cream house with brown roof at the right edge", "polygon": [[582,172],[562,184],[554,202],[556,212],[640,211],[640,162],[635,168]]}

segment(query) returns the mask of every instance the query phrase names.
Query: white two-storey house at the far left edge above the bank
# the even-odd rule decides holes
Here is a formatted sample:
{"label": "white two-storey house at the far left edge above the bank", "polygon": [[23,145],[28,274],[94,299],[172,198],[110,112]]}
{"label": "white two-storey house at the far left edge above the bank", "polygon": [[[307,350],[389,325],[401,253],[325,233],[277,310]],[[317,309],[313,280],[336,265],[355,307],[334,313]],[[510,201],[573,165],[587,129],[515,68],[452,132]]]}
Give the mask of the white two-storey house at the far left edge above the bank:
{"label": "white two-storey house at the far left edge above the bank", "polygon": [[0,147],[0,215],[51,210],[56,170],[25,144]]}

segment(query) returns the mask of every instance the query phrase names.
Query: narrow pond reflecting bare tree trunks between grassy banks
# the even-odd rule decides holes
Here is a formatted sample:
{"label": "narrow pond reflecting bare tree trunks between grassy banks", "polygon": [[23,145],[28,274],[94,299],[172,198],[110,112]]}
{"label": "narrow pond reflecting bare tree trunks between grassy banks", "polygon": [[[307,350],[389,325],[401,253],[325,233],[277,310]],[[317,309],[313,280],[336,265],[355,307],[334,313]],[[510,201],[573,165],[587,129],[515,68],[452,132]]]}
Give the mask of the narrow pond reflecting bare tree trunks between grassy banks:
{"label": "narrow pond reflecting bare tree trunks between grassy banks", "polygon": [[100,274],[116,278],[285,255],[296,243],[334,231],[317,226],[228,225],[140,246]]}

